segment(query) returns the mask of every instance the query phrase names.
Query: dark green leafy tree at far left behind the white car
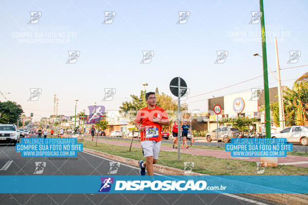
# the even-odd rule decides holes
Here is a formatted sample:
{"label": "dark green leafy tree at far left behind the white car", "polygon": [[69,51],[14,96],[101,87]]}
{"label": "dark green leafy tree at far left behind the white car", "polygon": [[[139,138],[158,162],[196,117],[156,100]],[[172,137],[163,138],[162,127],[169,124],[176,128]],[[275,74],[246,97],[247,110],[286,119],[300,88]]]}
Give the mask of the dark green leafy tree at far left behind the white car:
{"label": "dark green leafy tree at far left behind the white car", "polygon": [[15,124],[20,119],[23,109],[21,105],[17,105],[16,102],[6,101],[0,102],[0,113],[2,124]]}

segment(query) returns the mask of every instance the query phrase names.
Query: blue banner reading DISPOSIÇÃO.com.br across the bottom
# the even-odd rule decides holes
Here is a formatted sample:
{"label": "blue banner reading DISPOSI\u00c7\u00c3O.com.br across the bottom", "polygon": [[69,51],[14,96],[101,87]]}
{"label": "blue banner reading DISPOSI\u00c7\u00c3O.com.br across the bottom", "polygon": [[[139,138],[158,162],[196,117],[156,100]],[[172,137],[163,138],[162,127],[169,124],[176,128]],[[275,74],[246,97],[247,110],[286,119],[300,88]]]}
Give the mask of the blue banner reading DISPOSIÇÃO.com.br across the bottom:
{"label": "blue banner reading DISPOSI\u00c7\u00c3O.com.br across the bottom", "polygon": [[308,193],[308,176],[0,176],[0,193]]}

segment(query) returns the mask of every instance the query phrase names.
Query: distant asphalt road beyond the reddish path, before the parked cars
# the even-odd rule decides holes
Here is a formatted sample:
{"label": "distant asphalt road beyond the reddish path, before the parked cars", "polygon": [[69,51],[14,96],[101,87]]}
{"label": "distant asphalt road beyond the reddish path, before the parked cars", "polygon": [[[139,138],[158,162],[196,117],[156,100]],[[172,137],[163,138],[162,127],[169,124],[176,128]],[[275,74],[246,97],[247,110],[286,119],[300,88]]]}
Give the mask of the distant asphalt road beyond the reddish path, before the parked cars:
{"label": "distant asphalt road beyond the reddish path, before the parked cars", "polygon": [[[106,136],[106,137],[103,137],[103,138],[107,138],[107,139],[124,139],[124,140],[131,141],[131,138],[124,138],[124,137],[110,137],[110,136]],[[203,139],[203,140],[205,140],[205,139]],[[200,139],[195,139],[195,142],[194,142],[193,145],[217,147],[217,141],[216,140],[212,140],[211,142],[204,142],[203,140],[201,142]],[[134,141],[138,141],[138,138],[134,138]],[[173,140],[163,139],[162,143],[173,144]],[[189,140],[187,140],[187,145],[190,145],[190,141]],[[218,146],[219,147],[224,148],[225,145],[226,145],[225,142],[218,142]],[[300,144],[299,145],[293,144],[293,151],[304,152],[305,151],[305,146],[302,146]],[[308,147],[307,147],[307,151],[308,151]]]}

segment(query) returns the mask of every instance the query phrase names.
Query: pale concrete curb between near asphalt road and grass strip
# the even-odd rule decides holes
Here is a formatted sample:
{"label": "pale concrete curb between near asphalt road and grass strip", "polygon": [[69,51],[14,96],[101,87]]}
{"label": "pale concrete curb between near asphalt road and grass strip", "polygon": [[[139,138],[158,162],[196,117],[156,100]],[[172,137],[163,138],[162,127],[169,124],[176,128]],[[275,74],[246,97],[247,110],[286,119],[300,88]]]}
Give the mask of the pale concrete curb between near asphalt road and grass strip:
{"label": "pale concrete curb between near asphalt road and grass strip", "polygon": [[[127,165],[133,166],[133,167],[139,167],[138,166],[138,160],[136,159],[129,159],[126,157],[121,157],[121,156],[116,156],[112,154],[107,154],[104,152],[96,151],[96,150],[91,150],[87,148],[83,148],[83,151],[96,154],[102,157],[106,157],[108,159],[120,161],[122,163],[126,163]],[[196,172],[191,172],[190,174],[184,174],[183,170],[172,168],[172,167],[167,167],[163,165],[153,165],[154,172],[158,172],[164,175],[194,175],[194,176],[201,176],[205,174],[200,174]],[[248,196],[248,197],[257,197],[257,198],[262,198],[266,199],[269,201],[273,201],[275,203],[280,203],[280,204],[286,204],[286,205],[308,205],[308,196],[303,195],[303,194],[239,194],[242,196]]]}

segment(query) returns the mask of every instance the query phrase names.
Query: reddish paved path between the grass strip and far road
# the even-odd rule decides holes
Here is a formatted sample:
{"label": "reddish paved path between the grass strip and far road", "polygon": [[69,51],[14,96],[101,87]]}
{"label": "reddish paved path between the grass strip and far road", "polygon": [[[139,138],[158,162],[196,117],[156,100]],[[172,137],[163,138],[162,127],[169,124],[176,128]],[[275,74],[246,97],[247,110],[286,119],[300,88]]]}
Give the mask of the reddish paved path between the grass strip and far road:
{"label": "reddish paved path between the grass strip and far road", "polygon": [[[85,135],[87,136],[87,135]],[[79,137],[78,139],[81,139]],[[84,140],[91,141],[91,138],[83,138]],[[96,141],[96,137],[94,137]],[[117,145],[129,147],[130,141],[113,141],[113,140],[105,140],[102,138],[98,138],[98,142],[109,144],[109,145]],[[141,148],[141,144],[132,143],[133,148]],[[161,146],[161,151],[167,152],[178,152],[178,149],[173,149],[170,146]],[[221,159],[239,159],[244,161],[261,161],[261,157],[232,157],[230,152],[226,152],[224,150],[210,150],[210,149],[198,149],[198,148],[188,148],[188,149],[180,149],[181,153],[184,154],[193,154],[193,155],[201,155],[201,156],[212,156]],[[287,155],[286,157],[278,157],[278,165],[293,165],[296,167],[305,167],[308,168],[308,157],[302,156],[291,156]]]}

